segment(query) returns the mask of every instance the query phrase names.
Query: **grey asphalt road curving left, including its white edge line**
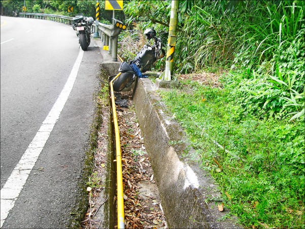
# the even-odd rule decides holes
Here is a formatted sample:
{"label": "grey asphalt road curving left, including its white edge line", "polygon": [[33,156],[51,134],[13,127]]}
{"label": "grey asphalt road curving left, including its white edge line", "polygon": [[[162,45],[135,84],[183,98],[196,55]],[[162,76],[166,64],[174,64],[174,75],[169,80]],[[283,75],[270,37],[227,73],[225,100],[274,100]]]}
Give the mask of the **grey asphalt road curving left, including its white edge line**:
{"label": "grey asphalt road curving left, including its white edge line", "polygon": [[79,49],[70,25],[4,16],[0,43],[2,228],[67,228],[79,201],[100,50],[93,41]]}

